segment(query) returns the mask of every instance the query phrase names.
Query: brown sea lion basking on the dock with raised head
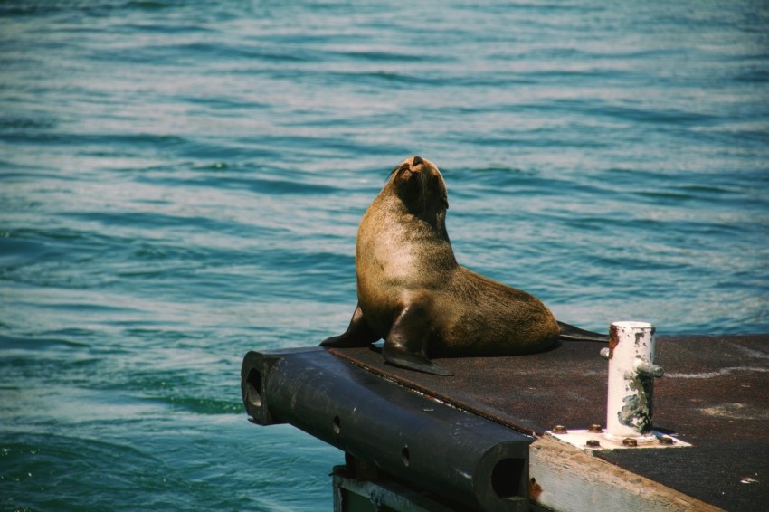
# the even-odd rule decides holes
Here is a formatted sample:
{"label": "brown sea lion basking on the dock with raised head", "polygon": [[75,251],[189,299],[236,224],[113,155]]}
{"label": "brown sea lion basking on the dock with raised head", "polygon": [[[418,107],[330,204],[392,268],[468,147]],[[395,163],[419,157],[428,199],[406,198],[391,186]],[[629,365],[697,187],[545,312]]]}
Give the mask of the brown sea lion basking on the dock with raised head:
{"label": "brown sea lion basking on the dock with raised head", "polygon": [[608,339],[558,322],[533,295],[460,266],[446,232],[448,207],[431,162],[412,156],[393,169],[358,228],[353,318],[321,346],[385,338],[387,363],[451,375],[430,357],[532,354],[559,338]]}

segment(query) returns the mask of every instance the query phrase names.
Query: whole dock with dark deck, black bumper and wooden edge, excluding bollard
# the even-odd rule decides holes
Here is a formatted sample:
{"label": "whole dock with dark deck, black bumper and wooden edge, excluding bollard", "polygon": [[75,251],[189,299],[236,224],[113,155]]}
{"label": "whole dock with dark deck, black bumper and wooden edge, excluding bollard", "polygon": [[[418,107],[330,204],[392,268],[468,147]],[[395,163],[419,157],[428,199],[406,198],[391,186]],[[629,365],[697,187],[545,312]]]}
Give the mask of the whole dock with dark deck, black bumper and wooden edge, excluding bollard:
{"label": "whole dock with dark deck, black bumper and wooden edge, excluding bollard", "polygon": [[449,377],[375,347],[250,352],[243,403],[345,451],[339,511],[769,509],[769,335],[657,338],[653,428],[672,447],[563,441],[605,428],[601,348],[437,360]]}

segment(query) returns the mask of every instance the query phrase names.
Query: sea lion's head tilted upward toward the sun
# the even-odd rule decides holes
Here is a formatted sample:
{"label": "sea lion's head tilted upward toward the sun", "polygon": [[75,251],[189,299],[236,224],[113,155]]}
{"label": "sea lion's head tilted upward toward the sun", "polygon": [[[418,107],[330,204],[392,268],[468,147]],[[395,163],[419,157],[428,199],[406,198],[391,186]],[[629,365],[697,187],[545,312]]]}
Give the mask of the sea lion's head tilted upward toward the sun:
{"label": "sea lion's head tilted upward toward the sun", "polygon": [[438,167],[422,156],[406,158],[393,169],[390,184],[406,209],[422,217],[445,215],[449,207],[446,183]]}

